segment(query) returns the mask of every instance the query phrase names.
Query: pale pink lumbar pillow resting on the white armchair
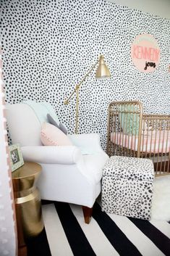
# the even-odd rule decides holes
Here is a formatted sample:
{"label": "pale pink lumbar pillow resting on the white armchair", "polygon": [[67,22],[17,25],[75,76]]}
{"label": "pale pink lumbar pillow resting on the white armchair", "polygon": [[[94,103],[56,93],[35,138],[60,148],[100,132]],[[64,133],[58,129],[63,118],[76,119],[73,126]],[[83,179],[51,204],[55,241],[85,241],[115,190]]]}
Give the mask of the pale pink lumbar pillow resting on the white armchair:
{"label": "pale pink lumbar pillow resting on the white armchair", "polygon": [[42,125],[41,142],[44,146],[72,146],[67,135],[50,123]]}

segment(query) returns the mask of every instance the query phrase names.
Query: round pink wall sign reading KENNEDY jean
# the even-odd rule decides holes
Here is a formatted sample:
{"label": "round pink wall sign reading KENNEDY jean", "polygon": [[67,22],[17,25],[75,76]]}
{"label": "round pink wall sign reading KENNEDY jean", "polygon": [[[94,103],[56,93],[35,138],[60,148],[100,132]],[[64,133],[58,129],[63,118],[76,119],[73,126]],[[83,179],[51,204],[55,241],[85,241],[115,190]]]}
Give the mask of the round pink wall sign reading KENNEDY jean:
{"label": "round pink wall sign reading KENNEDY jean", "polygon": [[131,46],[131,57],[137,70],[143,73],[153,72],[160,62],[158,42],[151,35],[138,35]]}

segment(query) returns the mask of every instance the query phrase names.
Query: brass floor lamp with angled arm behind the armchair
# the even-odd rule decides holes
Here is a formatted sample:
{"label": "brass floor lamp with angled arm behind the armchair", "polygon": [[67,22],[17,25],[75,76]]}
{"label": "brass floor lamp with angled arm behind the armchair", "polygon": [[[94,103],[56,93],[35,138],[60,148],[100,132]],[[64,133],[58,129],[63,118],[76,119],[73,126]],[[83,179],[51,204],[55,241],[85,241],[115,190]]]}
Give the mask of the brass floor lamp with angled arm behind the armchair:
{"label": "brass floor lamp with angled arm behind the armchair", "polygon": [[80,81],[80,83],[77,84],[77,86],[75,86],[74,91],[72,91],[72,94],[69,95],[68,99],[65,100],[64,104],[67,105],[69,104],[69,100],[72,98],[72,96],[76,93],[76,119],[75,119],[75,133],[78,132],[78,118],[79,118],[79,89],[81,84],[84,82],[85,78],[88,77],[88,75],[90,75],[90,73],[93,71],[93,69],[95,68],[95,66],[98,65],[98,68],[96,70],[95,73],[95,78],[96,79],[104,79],[104,78],[110,78],[111,77],[111,73],[109,71],[109,68],[106,66],[106,63],[104,61],[104,57],[103,55],[100,55],[98,58],[98,61],[95,62],[95,65],[93,65],[93,67],[91,67],[91,69],[88,71],[88,73],[84,76],[84,78],[82,78],[82,80]]}

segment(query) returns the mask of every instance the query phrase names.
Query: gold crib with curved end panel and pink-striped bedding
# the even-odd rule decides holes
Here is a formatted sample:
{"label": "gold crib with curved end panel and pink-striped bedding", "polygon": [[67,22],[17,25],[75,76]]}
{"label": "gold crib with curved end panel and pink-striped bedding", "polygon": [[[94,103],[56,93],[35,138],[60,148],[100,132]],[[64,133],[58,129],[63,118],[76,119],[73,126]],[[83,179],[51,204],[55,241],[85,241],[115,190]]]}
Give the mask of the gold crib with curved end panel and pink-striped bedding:
{"label": "gold crib with curved end panel and pink-striped bedding", "polygon": [[147,157],[156,176],[170,174],[170,115],[143,114],[143,104],[109,104],[107,154]]}

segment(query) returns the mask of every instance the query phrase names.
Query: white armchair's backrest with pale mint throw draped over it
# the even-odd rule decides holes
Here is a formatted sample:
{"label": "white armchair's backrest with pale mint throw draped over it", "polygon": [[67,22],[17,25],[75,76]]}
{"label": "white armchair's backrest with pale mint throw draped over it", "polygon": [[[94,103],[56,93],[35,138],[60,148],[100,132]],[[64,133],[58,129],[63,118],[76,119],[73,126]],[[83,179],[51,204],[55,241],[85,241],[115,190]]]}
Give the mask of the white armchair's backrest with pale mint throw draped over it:
{"label": "white armchair's backrest with pale mint throw draped over it", "polygon": [[48,102],[27,101],[7,104],[7,123],[12,144],[20,146],[42,146],[41,126],[48,122],[47,114],[59,123],[56,113]]}

